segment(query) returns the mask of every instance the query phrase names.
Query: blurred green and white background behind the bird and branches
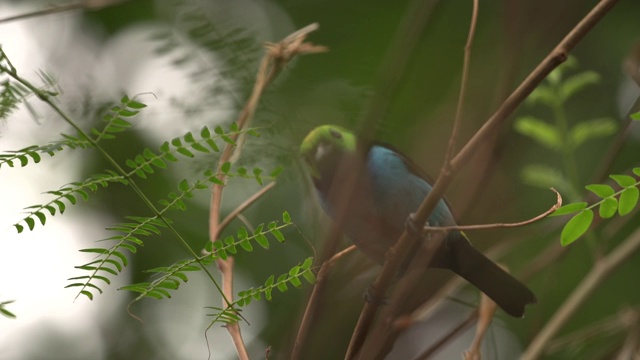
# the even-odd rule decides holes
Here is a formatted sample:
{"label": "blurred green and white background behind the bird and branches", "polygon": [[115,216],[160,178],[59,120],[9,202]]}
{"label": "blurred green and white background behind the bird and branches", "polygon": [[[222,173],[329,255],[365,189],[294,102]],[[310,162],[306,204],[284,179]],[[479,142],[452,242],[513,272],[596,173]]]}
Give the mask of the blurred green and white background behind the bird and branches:
{"label": "blurred green and white background behind the bird and branches", "polygon": [[[461,140],[468,139],[528,72],[562,39],[595,1],[481,2],[472,53]],[[52,10],[69,4],[58,1],[0,2],[0,45],[19,73],[38,83],[38,72],[55,79],[58,101],[83,128],[99,126],[101,116],[122,95],[141,95],[148,107],[135,118],[135,127],[105,143],[118,161],[132,158],[145,147],[157,149],[166,140],[202,126],[228,125],[248,98],[262,44],[276,42],[313,22],[320,24],[309,40],[330,51],[297,58],[263,96],[253,124],[260,138],[250,138],[240,164],[265,170],[282,166],[278,185],[244,213],[253,225],[279,219],[288,211],[297,229],[285,232],[287,242],[269,250],[257,249],[237,257],[237,290],[259,286],[271,274],[281,274],[308,256],[320,253],[329,223],[309,191],[296,158],[304,135],[319,124],[334,123],[357,129],[367,100],[378,84],[379,69],[408,8],[406,1],[258,1],[182,0],[123,2],[87,1],[84,7]],[[61,10],[58,8],[58,10]],[[566,104],[571,123],[594,117],[619,121],[638,97],[638,85],[624,71],[640,43],[640,3],[620,3],[572,52],[578,67],[600,75]],[[375,124],[376,139],[393,144],[432,175],[437,174],[455,112],[463,49],[471,16],[471,2],[437,2],[406,75],[389,99],[390,109]],[[636,63],[637,66],[637,63]],[[2,76],[2,75],[0,75]],[[4,77],[2,78],[4,81]],[[44,144],[73,133],[36,98],[27,99],[0,123],[0,150]],[[551,119],[543,107],[521,106],[518,115]],[[551,120],[550,120],[551,121]],[[640,133],[631,128],[613,161],[606,162],[615,135],[591,141],[576,152],[582,185],[599,181],[598,170],[624,173],[639,166]],[[159,199],[174,191],[184,178],[195,178],[215,165],[215,157],[182,161],[142,182]],[[505,126],[479,152],[450,187],[447,197],[461,223],[520,221],[546,210],[555,200],[549,190],[527,185],[522,169],[531,163],[561,168],[554,153]],[[604,165],[603,165],[604,164]],[[16,234],[12,224],[24,207],[47,201],[42,192],[102,172],[108,164],[94,151],[64,151],[24,168],[0,169],[0,301],[15,300],[7,308],[17,319],[0,318],[0,359],[233,359],[226,330],[205,328],[205,306],[219,306],[220,298],[202,274],[193,274],[171,299],[144,300],[127,314],[131,293],[117,288],[146,281],[143,271],[188,258],[169,236],[146,239],[145,246],[104,293],[93,301],[74,300],[64,289],[67,278],[82,275],[74,266],[91,259],[79,253],[95,241],[113,235],[105,227],[129,215],[149,215],[133,192],[110,186],[90,201],[70,206],[64,216],[46,226]],[[233,179],[226,188],[223,211],[229,212],[259,189],[251,180]],[[188,203],[187,212],[171,214],[176,227],[194,249],[207,241],[209,194]],[[511,319],[498,312],[485,343],[485,357],[512,359],[591,269],[594,258],[620,243],[638,225],[633,212],[611,226],[596,229],[595,242],[559,246],[559,228],[566,219],[545,220],[521,229],[471,234],[482,249],[507,244],[500,260],[526,275],[538,295],[526,318]],[[233,233],[240,222],[234,222]],[[346,246],[345,241],[341,246]],[[536,266],[545,255],[553,258]],[[549,256],[552,256],[549,255]],[[215,269],[212,269],[215,272]],[[362,305],[362,292],[378,267],[353,254],[335,269],[322,316],[313,326],[306,359],[341,358]],[[618,319],[623,310],[640,302],[635,255],[599,286],[559,337],[594,326],[593,337],[562,343],[548,352],[550,359],[610,358],[625,341],[628,328],[605,331],[602,321]],[[217,275],[217,274],[216,274]],[[416,302],[432,294],[449,277],[433,271]],[[250,325],[242,330],[254,358],[286,359],[297,331],[310,286],[274,294],[272,302],[254,302],[243,312]],[[407,336],[397,348],[410,349],[435,341],[438,335],[473,310],[477,294],[464,289],[437,317]],[[638,326],[638,320],[634,326]],[[600,324],[600,325],[599,325]],[[631,327],[629,327],[630,329]],[[470,329],[469,331],[473,331]],[[458,358],[469,334],[452,342],[437,356]],[[400,343],[399,343],[400,344]],[[411,355],[396,354],[396,358]]]}

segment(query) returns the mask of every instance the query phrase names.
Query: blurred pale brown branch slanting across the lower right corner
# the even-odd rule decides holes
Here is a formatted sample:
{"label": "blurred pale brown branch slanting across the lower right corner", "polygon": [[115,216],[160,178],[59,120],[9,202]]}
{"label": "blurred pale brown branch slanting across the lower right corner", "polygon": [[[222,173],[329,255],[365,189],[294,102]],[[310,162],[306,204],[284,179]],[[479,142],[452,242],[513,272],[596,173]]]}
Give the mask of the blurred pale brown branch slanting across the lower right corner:
{"label": "blurred pale brown branch slanting across the lower right corner", "polygon": [[569,295],[553,317],[546,323],[542,330],[531,341],[527,350],[522,354],[521,360],[537,359],[543,352],[548,342],[558,330],[576,312],[580,305],[589,298],[589,295],[602,283],[620,264],[640,250],[640,230],[636,230],[625,242],[618,245],[609,255],[598,261],[589,274]]}

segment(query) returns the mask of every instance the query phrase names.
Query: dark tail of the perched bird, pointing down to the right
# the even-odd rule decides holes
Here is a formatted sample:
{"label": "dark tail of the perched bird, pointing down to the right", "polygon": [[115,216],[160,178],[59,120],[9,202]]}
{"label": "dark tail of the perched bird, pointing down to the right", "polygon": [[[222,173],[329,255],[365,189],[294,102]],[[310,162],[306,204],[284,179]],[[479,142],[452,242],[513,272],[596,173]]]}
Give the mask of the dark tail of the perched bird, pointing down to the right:
{"label": "dark tail of the perched bird, pointing down to the right", "polygon": [[474,249],[460,234],[447,241],[451,255],[449,268],[489,296],[507,314],[524,316],[524,307],[537,302],[536,296],[523,283]]}

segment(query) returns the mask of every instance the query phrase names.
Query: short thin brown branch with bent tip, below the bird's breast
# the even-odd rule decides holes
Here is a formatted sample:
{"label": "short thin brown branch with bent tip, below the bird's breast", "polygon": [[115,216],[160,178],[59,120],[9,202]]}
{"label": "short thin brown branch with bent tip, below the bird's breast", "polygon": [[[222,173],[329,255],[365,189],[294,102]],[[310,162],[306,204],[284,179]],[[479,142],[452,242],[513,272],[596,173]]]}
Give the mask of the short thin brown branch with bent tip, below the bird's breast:
{"label": "short thin brown branch with bent tip, below the bird's breast", "polygon": [[321,299],[320,291],[322,291],[321,289],[324,288],[331,269],[341,257],[345,256],[355,249],[355,245],[349,246],[348,248],[333,255],[331,259],[325,261],[320,267],[320,271],[318,271],[318,275],[316,277],[316,283],[313,287],[313,291],[311,292],[311,296],[309,297],[309,301],[307,302],[307,307],[302,316],[300,328],[298,329],[298,335],[296,336],[296,340],[293,345],[293,351],[291,353],[292,360],[300,359],[302,348],[304,347],[304,343],[307,340],[309,329],[311,328],[311,323],[313,322],[312,319],[314,319],[315,315],[317,314],[318,304]]}

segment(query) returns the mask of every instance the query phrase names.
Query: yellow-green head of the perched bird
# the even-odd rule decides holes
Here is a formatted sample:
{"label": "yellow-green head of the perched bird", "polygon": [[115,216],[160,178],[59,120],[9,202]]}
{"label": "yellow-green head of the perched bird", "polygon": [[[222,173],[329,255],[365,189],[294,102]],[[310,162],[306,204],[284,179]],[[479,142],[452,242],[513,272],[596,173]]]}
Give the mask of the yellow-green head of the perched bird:
{"label": "yellow-green head of the perched bird", "polygon": [[314,180],[333,173],[343,156],[355,151],[355,135],[335,125],[322,125],[311,130],[300,146],[300,155]]}

